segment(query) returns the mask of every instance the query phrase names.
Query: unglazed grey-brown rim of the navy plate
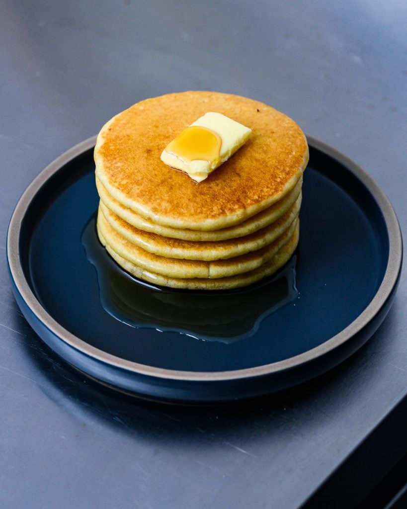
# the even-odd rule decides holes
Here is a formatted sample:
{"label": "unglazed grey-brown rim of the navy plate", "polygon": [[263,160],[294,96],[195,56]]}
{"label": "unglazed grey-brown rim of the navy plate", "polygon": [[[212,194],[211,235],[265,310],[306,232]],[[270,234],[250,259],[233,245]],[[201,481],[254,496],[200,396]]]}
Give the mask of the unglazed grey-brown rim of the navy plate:
{"label": "unglazed grey-brown rim of the navy plate", "polygon": [[59,322],[52,318],[31,290],[22,270],[19,251],[21,222],[28,206],[31,204],[41,187],[65,164],[80,156],[84,152],[91,150],[95,146],[96,136],[83,140],[48,164],[31,182],[31,184],[28,185],[17,202],[10,219],[7,233],[7,261],[10,277],[12,278],[17,291],[35,317],[66,345],[82,354],[88,355],[95,360],[102,362],[103,364],[110,365],[111,367],[117,367],[125,370],[126,372],[134,373],[135,375],[191,382],[234,381],[288,371],[328,354],[363,330],[372,321],[372,319],[381,312],[381,309],[392,296],[401,272],[403,249],[402,236],[396,213],[385,192],[376,183],[376,181],[350,157],[342,154],[335,148],[319,139],[314,138],[313,136],[307,135],[306,137],[310,147],[315,148],[316,150],[319,150],[339,161],[369,190],[383,213],[383,218],[389,236],[389,257],[386,271],[380,287],[375,292],[372,300],[353,322],[334,336],[330,337],[321,345],[293,357],[288,357],[287,359],[239,370],[214,372],[169,370],[122,359],[121,357],[93,347],[84,340],[81,340],[80,337],[65,329],[59,324]]}

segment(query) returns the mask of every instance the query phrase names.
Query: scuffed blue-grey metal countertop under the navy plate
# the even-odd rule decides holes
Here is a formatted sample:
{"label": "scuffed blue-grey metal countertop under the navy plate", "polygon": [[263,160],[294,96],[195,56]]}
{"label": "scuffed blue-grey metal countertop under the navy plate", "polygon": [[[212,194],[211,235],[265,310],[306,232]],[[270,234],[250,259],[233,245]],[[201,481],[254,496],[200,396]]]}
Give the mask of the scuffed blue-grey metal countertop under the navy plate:
{"label": "scuffed blue-grey metal countertop under the navy plate", "polygon": [[[405,236],[405,2],[3,0],[0,12],[3,239],[56,156],[134,102],[189,89],[284,111],[366,169]],[[177,408],[122,397],[53,354],[19,312],[0,249],[0,507],[294,509],[333,472],[325,506],[352,507],[405,453],[398,427],[377,455],[368,447],[404,408],[405,275],[380,329],[329,374],[252,404]],[[365,475],[351,472],[362,442]]]}

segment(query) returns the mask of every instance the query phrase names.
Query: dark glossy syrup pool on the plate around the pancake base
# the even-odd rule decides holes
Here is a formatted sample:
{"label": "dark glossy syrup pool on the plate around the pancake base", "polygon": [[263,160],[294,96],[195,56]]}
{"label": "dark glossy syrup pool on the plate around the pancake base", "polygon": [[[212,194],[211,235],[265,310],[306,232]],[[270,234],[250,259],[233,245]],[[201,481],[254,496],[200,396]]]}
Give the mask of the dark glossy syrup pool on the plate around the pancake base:
{"label": "dark glossy syrup pool on the plate around the pancake base", "polygon": [[97,271],[103,308],[130,327],[234,343],[254,334],[262,320],[298,296],[295,255],[276,274],[250,287],[192,291],[154,286],[124,271],[99,242],[96,215],[83,231],[82,244]]}

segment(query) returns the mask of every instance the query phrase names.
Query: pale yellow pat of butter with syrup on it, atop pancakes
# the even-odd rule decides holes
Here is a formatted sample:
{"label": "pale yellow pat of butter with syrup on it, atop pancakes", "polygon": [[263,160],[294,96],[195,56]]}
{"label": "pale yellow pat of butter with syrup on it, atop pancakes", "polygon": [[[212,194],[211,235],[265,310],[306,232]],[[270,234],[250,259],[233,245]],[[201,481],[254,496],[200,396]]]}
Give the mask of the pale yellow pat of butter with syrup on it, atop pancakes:
{"label": "pale yellow pat of butter with syrup on it, atop pancakes", "polygon": [[209,111],[165,147],[161,160],[201,182],[234,154],[250,135],[248,127]]}

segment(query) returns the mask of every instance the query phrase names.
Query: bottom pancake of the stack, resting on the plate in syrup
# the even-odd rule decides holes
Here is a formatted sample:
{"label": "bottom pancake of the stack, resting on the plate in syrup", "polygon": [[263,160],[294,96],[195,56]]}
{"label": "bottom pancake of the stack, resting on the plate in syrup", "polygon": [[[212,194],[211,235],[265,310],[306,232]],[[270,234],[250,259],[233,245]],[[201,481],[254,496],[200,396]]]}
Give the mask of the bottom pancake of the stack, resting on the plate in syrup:
{"label": "bottom pancake of the stack, resting on the plate in syrup", "polygon": [[117,252],[115,252],[105,241],[103,234],[99,231],[99,238],[110,256],[115,260],[121,267],[133,276],[149,281],[155,285],[166,286],[170,288],[180,288],[188,290],[232,290],[235,288],[241,288],[253,284],[260,279],[263,279],[282,267],[291,257],[295,251],[298,239],[299,239],[299,226],[297,224],[294,234],[290,237],[275,254],[274,257],[264,265],[261,265],[257,269],[254,269],[243,274],[238,274],[229,277],[221,277],[216,279],[209,278],[175,278],[163,276],[161,274],[154,273],[151,270],[143,269],[142,267],[129,262],[122,258]]}

